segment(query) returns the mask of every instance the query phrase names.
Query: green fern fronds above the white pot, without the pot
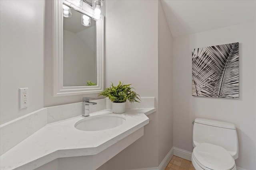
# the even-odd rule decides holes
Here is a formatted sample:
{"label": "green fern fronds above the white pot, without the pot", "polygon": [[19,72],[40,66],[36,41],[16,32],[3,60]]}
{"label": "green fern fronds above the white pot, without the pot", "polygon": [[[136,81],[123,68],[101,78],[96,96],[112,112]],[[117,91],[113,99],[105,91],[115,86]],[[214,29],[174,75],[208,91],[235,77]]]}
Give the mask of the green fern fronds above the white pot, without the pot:
{"label": "green fern fronds above the white pot, without the pot", "polygon": [[114,86],[112,83],[110,87],[101,92],[99,96],[106,96],[111,100],[111,102],[115,103],[123,103],[126,102],[126,100],[131,103],[139,102],[140,95],[132,91],[134,88],[130,87],[130,85],[132,84],[123,84],[120,81],[117,86]]}

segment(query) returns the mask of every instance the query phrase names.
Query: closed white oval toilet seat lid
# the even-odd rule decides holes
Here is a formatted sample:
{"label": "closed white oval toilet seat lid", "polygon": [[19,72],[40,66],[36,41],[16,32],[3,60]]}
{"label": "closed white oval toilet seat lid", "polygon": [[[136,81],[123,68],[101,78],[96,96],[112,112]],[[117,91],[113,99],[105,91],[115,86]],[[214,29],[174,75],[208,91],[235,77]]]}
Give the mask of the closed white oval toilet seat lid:
{"label": "closed white oval toilet seat lid", "polygon": [[210,143],[200,143],[192,153],[198,166],[204,170],[232,170],[234,158],[224,148]]}

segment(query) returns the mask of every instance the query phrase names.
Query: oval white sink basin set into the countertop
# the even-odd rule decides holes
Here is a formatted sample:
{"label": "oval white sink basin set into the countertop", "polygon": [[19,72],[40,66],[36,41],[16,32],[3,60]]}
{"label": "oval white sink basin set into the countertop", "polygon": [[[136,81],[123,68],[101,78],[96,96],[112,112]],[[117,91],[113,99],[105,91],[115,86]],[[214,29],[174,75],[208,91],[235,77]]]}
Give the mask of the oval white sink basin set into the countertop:
{"label": "oval white sink basin set into the countertop", "polygon": [[125,121],[120,115],[96,115],[76,122],[75,127],[82,131],[102,131],[118,127]]}

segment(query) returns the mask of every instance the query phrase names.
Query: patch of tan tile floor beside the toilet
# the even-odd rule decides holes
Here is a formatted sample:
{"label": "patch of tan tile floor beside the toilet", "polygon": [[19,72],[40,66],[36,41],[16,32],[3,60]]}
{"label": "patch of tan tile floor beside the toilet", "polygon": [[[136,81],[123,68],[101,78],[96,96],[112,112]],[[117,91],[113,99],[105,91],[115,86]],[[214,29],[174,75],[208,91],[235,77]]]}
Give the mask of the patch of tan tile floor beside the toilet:
{"label": "patch of tan tile floor beside the toilet", "polygon": [[191,161],[178,156],[172,156],[165,170],[195,170],[195,168]]}

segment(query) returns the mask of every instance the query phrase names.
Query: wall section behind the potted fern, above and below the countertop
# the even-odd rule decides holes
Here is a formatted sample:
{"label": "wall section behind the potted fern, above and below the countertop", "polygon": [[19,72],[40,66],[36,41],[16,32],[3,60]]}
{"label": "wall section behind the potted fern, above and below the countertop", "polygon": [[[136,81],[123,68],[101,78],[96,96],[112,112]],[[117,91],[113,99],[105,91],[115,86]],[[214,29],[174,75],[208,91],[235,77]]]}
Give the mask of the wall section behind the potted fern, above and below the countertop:
{"label": "wall section behind the potted fern, above and below the countertop", "polygon": [[[158,1],[106,1],[106,86],[132,84],[158,100]],[[106,163],[108,170],[158,166],[158,113],[144,135]]]}

